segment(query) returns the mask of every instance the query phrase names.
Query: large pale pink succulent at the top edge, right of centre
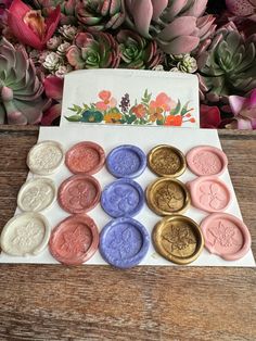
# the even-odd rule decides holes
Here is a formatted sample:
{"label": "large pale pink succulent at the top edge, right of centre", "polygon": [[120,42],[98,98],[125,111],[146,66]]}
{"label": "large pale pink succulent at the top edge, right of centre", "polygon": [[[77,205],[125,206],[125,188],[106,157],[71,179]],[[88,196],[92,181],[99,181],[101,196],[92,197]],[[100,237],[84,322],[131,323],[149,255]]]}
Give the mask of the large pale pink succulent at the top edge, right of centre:
{"label": "large pale pink succulent at the top edge, right of centre", "polygon": [[207,0],[126,0],[125,3],[129,27],[156,40],[166,53],[189,53],[216,28],[213,15],[202,16]]}

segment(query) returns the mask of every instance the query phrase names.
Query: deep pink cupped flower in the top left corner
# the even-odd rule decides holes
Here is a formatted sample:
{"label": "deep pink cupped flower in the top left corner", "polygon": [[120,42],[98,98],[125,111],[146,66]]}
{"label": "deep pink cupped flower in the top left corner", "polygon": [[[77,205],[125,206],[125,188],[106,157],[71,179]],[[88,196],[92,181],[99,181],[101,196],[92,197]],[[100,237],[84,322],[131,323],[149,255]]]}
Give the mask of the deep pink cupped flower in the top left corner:
{"label": "deep pink cupped flower in the top left corner", "polygon": [[31,10],[21,0],[14,0],[9,9],[8,25],[21,42],[42,50],[54,34],[60,17],[60,5],[44,20],[40,11]]}

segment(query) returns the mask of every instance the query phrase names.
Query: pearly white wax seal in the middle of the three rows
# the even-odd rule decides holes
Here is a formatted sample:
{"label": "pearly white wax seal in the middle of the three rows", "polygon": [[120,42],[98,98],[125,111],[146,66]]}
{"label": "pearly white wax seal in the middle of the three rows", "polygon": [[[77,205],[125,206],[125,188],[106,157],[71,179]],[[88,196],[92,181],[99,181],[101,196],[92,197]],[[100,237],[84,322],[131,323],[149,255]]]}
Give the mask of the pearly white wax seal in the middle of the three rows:
{"label": "pearly white wax seal in the middle of the three rows", "polygon": [[56,198],[56,187],[48,178],[35,178],[25,182],[17,194],[17,206],[25,212],[49,209]]}

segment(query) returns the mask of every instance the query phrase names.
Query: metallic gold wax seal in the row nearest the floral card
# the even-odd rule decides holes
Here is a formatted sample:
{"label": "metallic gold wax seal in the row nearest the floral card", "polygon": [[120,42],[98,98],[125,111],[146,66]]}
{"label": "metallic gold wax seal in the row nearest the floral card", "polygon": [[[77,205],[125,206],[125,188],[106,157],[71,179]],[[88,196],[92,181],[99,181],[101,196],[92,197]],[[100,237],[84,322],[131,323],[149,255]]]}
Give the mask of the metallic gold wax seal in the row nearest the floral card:
{"label": "metallic gold wax seal in the row nearest the floral card", "polygon": [[185,171],[183,153],[172,146],[159,144],[148,154],[150,169],[159,176],[178,177]]}

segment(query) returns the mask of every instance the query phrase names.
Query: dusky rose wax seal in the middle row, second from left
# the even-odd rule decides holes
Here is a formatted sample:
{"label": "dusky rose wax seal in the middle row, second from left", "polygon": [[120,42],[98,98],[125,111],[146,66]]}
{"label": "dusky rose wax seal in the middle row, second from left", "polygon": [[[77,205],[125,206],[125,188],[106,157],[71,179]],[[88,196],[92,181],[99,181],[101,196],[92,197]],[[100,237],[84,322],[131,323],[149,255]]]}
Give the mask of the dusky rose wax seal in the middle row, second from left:
{"label": "dusky rose wax seal in the middle row, second from left", "polygon": [[101,187],[90,175],[73,175],[64,180],[57,191],[60,206],[69,213],[86,213],[100,201]]}

